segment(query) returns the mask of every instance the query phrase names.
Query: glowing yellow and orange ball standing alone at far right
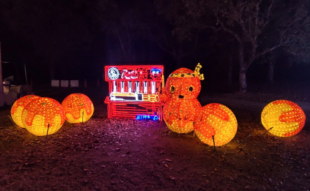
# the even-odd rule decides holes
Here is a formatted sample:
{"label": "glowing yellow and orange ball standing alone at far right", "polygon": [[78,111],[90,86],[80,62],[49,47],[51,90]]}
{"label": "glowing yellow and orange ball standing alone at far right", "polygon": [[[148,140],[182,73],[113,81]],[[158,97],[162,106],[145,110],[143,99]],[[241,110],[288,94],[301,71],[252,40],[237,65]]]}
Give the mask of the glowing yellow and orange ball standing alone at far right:
{"label": "glowing yellow and orange ball standing alone at far right", "polygon": [[294,102],[277,100],[269,103],[262,111],[262,124],[270,133],[280,137],[293,136],[303,128],[306,116]]}

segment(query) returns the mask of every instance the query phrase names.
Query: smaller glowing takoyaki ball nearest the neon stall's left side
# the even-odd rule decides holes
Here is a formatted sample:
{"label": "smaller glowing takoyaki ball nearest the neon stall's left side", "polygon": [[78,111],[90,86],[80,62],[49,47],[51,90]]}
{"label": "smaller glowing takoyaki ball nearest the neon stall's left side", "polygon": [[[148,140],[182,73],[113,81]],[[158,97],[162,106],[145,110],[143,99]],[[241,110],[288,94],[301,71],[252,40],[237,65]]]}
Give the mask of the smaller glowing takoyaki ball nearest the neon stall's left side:
{"label": "smaller glowing takoyaki ball nearest the neon stall's left side", "polygon": [[94,113],[91,99],[82,93],[73,93],[61,103],[64,108],[65,119],[69,123],[81,123],[89,120]]}

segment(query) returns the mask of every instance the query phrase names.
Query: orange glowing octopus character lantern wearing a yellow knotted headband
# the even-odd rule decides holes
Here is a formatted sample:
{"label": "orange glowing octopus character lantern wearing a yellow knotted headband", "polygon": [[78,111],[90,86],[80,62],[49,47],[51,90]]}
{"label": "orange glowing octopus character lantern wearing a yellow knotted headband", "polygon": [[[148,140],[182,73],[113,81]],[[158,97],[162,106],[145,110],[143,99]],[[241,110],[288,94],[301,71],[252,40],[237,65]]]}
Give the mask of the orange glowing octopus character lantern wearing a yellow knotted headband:
{"label": "orange glowing octopus character lantern wearing a yellow knotted headband", "polygon": [[[163,107],[163,119],[168,128],[176,133],[193,131],[193,121],[201,108],[197,96],[201,89],[199,73],[201,65],[195,71],[180,68],[172,72],[167,78],[166,89],[162,88],[160,100],[166,102]],[[164,85],[163,85],[164,86]]]}

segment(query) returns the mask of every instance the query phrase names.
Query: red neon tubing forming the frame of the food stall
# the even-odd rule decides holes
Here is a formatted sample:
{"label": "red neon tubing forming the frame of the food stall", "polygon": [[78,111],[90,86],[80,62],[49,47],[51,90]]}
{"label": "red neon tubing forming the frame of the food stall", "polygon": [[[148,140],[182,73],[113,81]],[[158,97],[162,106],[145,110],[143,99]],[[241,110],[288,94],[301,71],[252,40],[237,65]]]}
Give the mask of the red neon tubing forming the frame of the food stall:
{"label": "red neon tubing forming the frame of the food stall", "polygon": [[[111,80],[108,77],[108,70],[110,68],[117,68],[119,71],[119,76],[115,80]],[[158,74],[151,74],[151,69],[157,68],[161,69]],[[164,66],[162,65],[135,65],[135,66],[104,66],[105,70],[105,81],[109,82],[109,94],[113,91],[113,81],[116,81],[117,92],[121,92],[121,81],[124,81],[124,92],[128,92],[128,81],[132,82],[131,84],[131,92],[135,93],[136,87],[135,82],[140,82],[139,90],[140,92],[143,89],[143,82],[146,81],[148,83],[148,93],[143,93],[143,99],[148,98],[148,101],[115,101],[111,100],[110,96],[105,98],[104,103],[108,104],[108,118],[111,117],[130,117],[136,119],[137,115],[157,115],[159,117],[159,121],[162,121],[162,106],[163,102],[159,102],[159,99],[150,99],[151,93],[151,82],[155,82],[155,93],[152,96],[155,96],[157,93],[160,94],[162,88],[162,75],[164,72]],[[123,79],[121,78],[123,71],[125,73],[123,75]],[[127,71],[126,71],[127,70]],[[136,70],[137,72],[133,72]],[[141,74],[142,72],[142,74]],[[125,79],[126,78],[135,78],[137,79]],[[150,101],[153,100],[153,101]]]}

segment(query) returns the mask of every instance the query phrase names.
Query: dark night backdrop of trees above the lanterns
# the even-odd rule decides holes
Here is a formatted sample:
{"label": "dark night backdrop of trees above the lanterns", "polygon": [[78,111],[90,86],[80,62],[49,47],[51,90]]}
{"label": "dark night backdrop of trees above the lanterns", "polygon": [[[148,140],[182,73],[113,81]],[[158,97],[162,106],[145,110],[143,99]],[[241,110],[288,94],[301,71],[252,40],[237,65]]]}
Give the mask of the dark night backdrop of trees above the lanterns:
{"label": "dark night backdrop of trees above the lanterns", "polygon": [[309,80],[309,8],[307,0],[2,0],[4,71],[22,80],[26,64],[29,78],[46,83],[102,79],[106,64],[163,63],[168,74],[201,62],[207,81],[241,92],[247,80]]}

